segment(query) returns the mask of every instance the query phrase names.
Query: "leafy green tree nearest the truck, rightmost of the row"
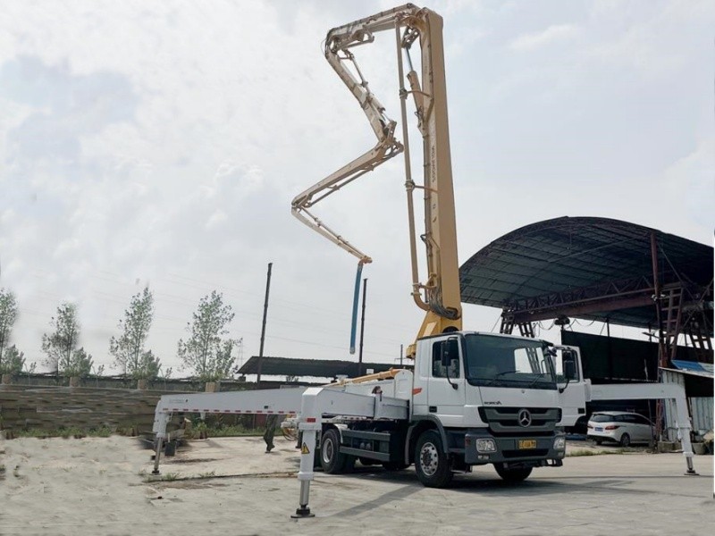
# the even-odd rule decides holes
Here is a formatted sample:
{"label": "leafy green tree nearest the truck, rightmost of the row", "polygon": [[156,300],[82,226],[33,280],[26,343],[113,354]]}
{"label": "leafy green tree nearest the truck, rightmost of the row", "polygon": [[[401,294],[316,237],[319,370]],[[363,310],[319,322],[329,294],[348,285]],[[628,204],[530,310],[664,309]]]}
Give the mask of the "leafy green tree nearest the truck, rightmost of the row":
{"label": "leafy green tree nearest the truck, rightmost of the row", "polygon": [[233,316],[231,306],[224,306],[223,295],[215,290],[198,302],[193,322],[186,326],[189,339],[179,340],[178,353],[184,367],[196,373],[199,380],[217,381],[231,374],[237,341],[224,336],[229,333],[226,326]]}

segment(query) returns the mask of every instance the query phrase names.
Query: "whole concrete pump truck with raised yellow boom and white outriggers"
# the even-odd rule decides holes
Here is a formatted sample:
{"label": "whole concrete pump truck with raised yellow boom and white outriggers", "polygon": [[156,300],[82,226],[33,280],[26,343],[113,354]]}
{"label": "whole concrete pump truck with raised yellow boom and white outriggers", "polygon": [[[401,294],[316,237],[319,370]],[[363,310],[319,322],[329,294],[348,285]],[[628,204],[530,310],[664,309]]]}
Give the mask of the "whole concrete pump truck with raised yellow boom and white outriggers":
{"label": "whole concrete pump truck with raised yellow boom and white outriggers", "polygon": [[[374,34],[381,31],[394,32],[397,46],[402,140],[395,137],[397,122],[385,114],[370,91],[353,54],[357,46],[373,43]],[[413,67],[410,56],[417,44],[420,71]],[[630,394],[625,394],[617,386],[592,387],[580,374],[577,348],[462,329],[442,17],[405,4],[331,29],[324,54],[366,113],[377,143],[295,197],[292,212],[357,256],[358,267],[370,263],[368,255],[320,221],[312,207],[404,153],[412,297],[425,310],[425,320],[408,348],[414,366],[307,389],[165,395],[156,406],[155,472],[172,414],[295,413],[302,436],[297,517],[312,515],[309,484],[316,462],[325,473],[348,472],[356,460],[382,464],[391,471],[414,464],[420,482],[439,488],[448,486],[455,473],[470,472],[475,465],[493,465],[502,479],[520,482],[535,467],[562,465],[566,449],[563,426],[573,425],[585,415],[585,402],[595,398],[674,400],[684,452],[691,452],[686,454],[688,471],[693,471],[682,388],[631,385],[627,386]],[[409,97],[422,136],[424,178],[420,185],[411,175]],[[424,193],[424,283],[419,281],[417,267],[416,189]]]}

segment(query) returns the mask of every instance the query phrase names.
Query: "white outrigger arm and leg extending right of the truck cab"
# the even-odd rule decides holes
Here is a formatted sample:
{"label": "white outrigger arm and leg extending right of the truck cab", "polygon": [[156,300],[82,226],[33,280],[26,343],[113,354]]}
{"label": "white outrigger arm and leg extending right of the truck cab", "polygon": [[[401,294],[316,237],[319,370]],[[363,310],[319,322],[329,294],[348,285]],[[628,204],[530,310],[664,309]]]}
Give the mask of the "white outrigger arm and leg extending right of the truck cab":
{"label": "white outrigger arm and leg extending right of the truck cab", "polygon": [[586,402],[593,400],[659,400],[669,399],[675,403],[677,415],[677,435],[686,458],[686,474],[695,474],[693,468],[693,446],[690,442],[690,416],[687,411],[686,389],[675,383],[624,383],[586,384]]}

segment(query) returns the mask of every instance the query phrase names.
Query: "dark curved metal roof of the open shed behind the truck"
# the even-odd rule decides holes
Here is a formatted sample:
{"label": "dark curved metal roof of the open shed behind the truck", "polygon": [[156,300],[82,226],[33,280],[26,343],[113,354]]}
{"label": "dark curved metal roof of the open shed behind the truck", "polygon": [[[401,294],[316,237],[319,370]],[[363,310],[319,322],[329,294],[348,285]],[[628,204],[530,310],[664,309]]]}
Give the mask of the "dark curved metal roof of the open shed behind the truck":
{"label": "dark curved metal roof of the open shed behind the truck", "polygon": [[475,253],[459,269],[462,301],[515,312],[517,322],[567,314],[654,327],[652,236],[661,286],[711,300],[712,247],[635,223],[561,217],[513,230]]}

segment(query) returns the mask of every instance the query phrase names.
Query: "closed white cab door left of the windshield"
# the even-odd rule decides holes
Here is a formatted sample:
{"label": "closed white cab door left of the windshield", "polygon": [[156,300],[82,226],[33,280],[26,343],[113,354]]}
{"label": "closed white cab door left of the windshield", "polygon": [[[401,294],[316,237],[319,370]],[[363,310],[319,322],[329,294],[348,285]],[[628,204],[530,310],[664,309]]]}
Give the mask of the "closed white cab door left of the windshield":
{"label": "closed white cab door left of the windshield", "polygon": [[436,340],[432,345],[427,404],[429,413],[444,426],[464,423],[465,372],[458,337]]}

